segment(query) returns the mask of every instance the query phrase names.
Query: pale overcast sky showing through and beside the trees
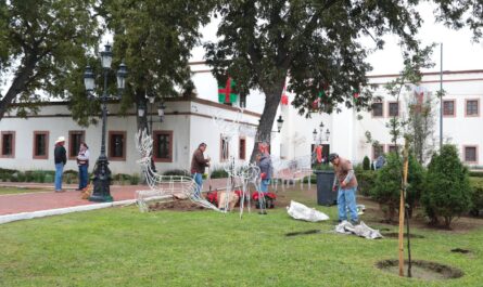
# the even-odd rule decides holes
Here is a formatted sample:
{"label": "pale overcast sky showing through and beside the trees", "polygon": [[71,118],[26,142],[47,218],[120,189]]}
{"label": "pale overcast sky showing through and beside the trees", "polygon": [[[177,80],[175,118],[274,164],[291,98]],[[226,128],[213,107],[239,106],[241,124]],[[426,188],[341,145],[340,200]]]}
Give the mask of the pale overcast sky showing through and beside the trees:
{"label": "pale overcast sky showing through and beside the trees", "polygon": [[[441,23],[435,23],[434,8],[435,5],[429,2],[423,2],[418,6],[424,21],[418,39],[422,41],[422,44],[437,43],[432,55],[435,65],[430,70],[438,71],[441,68],[440,43],[443,43],[443,70],[483,69],[483,43],[473,43],[472,32],[468,28],[454,30]],[[202,29],[203,41],[216,40],[216,27],[217,22],[212,22]],[[370,75],[397,74],[403,68],[397,37],[389,35],[384,37],[384,49],[378,50],[367,58],[373,67]],[[370,42],[371,40],[364,39],[364,43],[370,44]],[[191,61],[203,61],[203,49],[201,47],[194,49]]]}

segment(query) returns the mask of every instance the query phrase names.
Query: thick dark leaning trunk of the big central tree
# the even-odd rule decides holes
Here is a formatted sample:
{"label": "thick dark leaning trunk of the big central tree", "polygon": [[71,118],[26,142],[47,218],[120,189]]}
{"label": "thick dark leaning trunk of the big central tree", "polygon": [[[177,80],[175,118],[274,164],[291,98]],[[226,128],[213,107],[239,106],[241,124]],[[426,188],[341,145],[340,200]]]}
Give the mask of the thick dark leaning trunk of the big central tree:
{"label": "thick dark leaning trunk of the big central tree", "polygon": [[255,161],[255,156],[258,151],[257,143],[265,142],[271,145],[271,129],[274,127],[275,117],[277,116],[277,109],[282,96],[284,78],[276,87],[269,87],[263,89],[265,93],[265,106],[264,112],[259,120],[258,128],[255,135],[255,144],[253,146],[252,156],[250,161]]}

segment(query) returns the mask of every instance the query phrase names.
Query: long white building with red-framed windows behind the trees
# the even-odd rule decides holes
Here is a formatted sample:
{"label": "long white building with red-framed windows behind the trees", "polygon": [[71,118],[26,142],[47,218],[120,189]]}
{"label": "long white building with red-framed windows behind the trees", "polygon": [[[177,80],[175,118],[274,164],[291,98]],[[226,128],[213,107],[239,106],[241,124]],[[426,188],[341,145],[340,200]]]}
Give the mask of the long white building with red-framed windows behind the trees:
{"label": "long white building with red-framed windows behind the trees", "polygon": [[[194,69],[193,81],[196,86],[199,99],[178,99],[166,103],[164,122],[153,123],[154,157],[156,168],[164,172],[173,169],[188,170],[191,154],[201,142],[206,142],[214,162],[224,161],[228,156],[236,159],[249,159],[255,143],[254,130],[264,106],[264,96],[259,92],[252,92],[246,99],[246,109],[243,115],[239,109],[217,103],[217,83],[209,70]],[[391,81],[397,75],[370,76],[372,83]],[[433,96],[440,90],[440,74],[428,73],[417,88]],[[483,70],[445,71],[443,76],[444,118],[443,135],[445,142],[456,144],[461,159],[469,166],[483,162],[480,147],[483,145]],[[372,112],[357,114],[354,109],[343,108],[342,113],[312,114],[305,118],[297,114],[291,105],[281,106],[277,117],[282,116],[284,122],[281,132],[272,128],[272,155],[285,159],[310,155],[314,144],[314,130],[317,141],[325,144],[325,153],[336,152],[341,156],[360,162],[367,155],[374,157],[371,144],[366,142],[366,132],[370,132],[374,140],[383,145],[383,151],[391,148],[389,129],[385,127],[393,113],[399,116],[406,114],[408,101],[414,100],[414,93],[403,93],[399,103],[379,88],[376,93],[382,97],[374,103]],[[289,102],[292,96],[289,94]],[[14,112],[8,114],[0,121],[0,168],[18,170],[52,170],[53,145],[58,136],[66,136],[68,160],[66,169],[77,169],[75,152],[80,141],[86,141],[91,152],[90,170],[100,153],[101,125],[87,129],[79,127],[71,117],[66,103],[47,103],[38,115],[27,119],[18,118]],[[113,173],[139,173],[136,160],[139,158],[135,147],[137,113],[130,110],[126,117],[120,117],[115,104],[109,105],[106,152]],[[436,101],[435,115],[438,115]],[[213,116],[219,116],[225,122],[225,130],[216,125]],[[154,117],[156,117],[154,115]],[[231,138],[228,155],[221,152],[224,132],[233,121],[233,129],[242,134]],[[319,126],[323,122],[320,136]],[[440,131],[438,116],[435,117],[434,144],[438,146]],[[229,128],[229,127],[228,127]],[[327,129],[330,134],[326,138]]]}

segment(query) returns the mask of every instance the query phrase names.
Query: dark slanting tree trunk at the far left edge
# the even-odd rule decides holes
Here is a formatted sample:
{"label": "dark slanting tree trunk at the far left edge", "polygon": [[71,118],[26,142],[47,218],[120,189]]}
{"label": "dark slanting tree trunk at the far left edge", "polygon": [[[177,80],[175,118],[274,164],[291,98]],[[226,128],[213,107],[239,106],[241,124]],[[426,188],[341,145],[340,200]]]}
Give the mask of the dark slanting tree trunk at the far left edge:
{"label": "dark slanting tree trunk at the far left edge", "polygon": [[34,74],[35,65],[37,64],[37,57],[30,55],[25,58],[25,65],[15,73],[15,78],[10,86],[9,91],[0,101],[0,120],[2,120],[7,110],[9,109],[15,97],[22,93],[28,84],[29,78]]}

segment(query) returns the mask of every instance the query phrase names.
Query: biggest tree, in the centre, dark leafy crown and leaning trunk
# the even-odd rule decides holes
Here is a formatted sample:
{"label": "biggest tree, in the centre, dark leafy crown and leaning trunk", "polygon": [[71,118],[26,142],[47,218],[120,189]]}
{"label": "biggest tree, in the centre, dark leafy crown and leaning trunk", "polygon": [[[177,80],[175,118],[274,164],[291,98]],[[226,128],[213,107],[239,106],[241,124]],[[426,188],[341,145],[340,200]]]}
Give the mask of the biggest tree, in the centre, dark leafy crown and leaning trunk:
{"label": "biggest tree, in the centre, dark leafy crown and leaning trunk", "polygon": [[373,49],[382,49],[381,37],[393,32],[405,49],[417,49],[418,2],[225,0],[216,10],[221,17],[219,41],[205,45],[207,62],[218,79],[230,75],[240,90],[264,92],[257,139],[269,141],[287,76],[288,90],[295,93],[292,104],[301,114],[307,114],[319,95],[320,112],[367,106],[370,93],[359,89],[368,83],[371,49],[360,40],[372,37]]}

